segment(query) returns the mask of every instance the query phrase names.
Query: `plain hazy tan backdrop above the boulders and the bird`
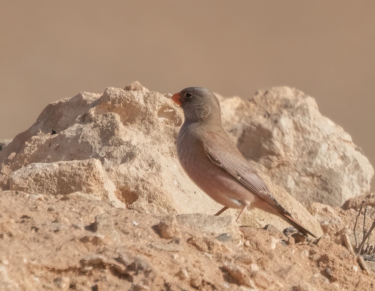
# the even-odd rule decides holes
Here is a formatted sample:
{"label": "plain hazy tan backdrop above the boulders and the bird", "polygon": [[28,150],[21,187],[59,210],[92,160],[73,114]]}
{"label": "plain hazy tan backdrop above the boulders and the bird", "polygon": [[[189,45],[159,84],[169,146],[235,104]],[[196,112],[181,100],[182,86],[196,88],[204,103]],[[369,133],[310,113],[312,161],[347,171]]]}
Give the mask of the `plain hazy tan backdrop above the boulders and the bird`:
{"label": "plain hazy tan backdrop above the boulders and the bird", "polygon": [[0,0],[0,139],[50,102],[138,80],[313,96],[375,165],[374,1]]}

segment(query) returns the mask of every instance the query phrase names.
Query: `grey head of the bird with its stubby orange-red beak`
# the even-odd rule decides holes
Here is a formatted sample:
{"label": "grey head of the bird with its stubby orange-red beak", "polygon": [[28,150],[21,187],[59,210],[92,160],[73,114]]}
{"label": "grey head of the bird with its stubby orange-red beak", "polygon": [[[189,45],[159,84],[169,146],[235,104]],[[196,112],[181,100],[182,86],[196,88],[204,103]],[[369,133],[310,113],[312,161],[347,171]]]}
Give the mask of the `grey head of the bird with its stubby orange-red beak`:
{"label": "grey head of the bird with its stubby orange-red beak", "polygon": [[221,125],[221,110],[216,96],[207,89],[189,87],[175,93],[172,101],[179,105],[185,122]]}

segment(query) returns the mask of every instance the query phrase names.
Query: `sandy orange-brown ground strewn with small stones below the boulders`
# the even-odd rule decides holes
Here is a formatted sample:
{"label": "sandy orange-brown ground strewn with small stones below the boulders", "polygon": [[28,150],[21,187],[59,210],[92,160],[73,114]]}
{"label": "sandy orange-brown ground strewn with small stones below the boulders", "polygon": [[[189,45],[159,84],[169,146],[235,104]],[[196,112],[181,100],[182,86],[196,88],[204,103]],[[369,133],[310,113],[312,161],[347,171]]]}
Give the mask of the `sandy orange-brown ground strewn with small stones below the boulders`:
{"label": "sandy orange-brown ground strewn with small stones below the boulders", "polygon": [[1,193],[0,289],[373,290],[332,237],[295,242],[234,217],[116,209],[92,195]]}

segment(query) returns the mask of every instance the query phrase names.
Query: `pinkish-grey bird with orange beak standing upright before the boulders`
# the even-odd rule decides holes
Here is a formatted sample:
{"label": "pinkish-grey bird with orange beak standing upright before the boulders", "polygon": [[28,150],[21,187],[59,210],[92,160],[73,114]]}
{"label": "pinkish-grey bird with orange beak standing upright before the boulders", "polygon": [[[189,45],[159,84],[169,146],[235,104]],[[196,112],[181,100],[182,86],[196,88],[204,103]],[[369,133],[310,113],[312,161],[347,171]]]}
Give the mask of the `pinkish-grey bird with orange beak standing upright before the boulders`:
{"label": "pinkish-grey bird with orange beak standing upright before the boulders", "polygon": [[189,178],[210,198],[228,208],[260,208],[287,220],[305,236],[310,231],[298,223],[272,196],[225,132],[216,96],[201,87],[188,87],[170,99],[183,110],[184,122],[177,136],[177,157]]}

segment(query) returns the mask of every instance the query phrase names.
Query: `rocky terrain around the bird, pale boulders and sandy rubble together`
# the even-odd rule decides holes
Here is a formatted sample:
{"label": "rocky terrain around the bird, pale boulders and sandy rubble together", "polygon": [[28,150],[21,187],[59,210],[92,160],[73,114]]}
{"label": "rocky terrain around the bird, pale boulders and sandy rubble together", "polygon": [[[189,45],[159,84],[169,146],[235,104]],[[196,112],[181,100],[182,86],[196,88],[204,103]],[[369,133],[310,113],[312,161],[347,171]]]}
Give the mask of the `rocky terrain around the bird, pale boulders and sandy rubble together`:
{"label": "rocky terrain around the bird, pale boulders and sandy rubble together", "polygon": [[318,238],[258,210],[212,216],[176,159],[180,110],[134,82],[49,104],[0,142],[0,290],[373,290],[353,226],[364,199],[359,240],[375,219],[374,171],[350,136],[296,89],[219,99],[238,148]]}

